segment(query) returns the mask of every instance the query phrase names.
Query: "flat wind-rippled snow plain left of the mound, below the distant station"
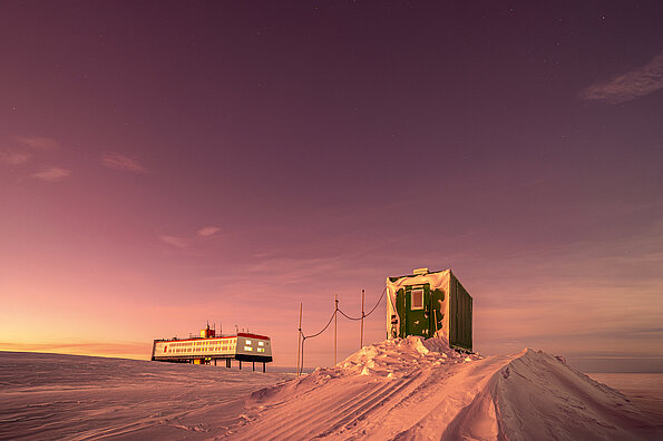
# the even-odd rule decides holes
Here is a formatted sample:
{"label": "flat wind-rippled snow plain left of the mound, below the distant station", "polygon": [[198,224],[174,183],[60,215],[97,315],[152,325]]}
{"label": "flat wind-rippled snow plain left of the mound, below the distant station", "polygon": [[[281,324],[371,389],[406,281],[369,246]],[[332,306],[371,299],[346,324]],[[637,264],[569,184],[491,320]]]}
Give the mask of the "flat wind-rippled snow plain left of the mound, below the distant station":
{"label": "flat wind-rippled snow plain left of the mound, below the distant station", "polygon": [[[248,371],[246,370],[248,365]],[[0,440],[204,440],[245,396],[292,374],[213,365],[0,352]]]}

